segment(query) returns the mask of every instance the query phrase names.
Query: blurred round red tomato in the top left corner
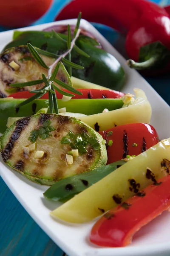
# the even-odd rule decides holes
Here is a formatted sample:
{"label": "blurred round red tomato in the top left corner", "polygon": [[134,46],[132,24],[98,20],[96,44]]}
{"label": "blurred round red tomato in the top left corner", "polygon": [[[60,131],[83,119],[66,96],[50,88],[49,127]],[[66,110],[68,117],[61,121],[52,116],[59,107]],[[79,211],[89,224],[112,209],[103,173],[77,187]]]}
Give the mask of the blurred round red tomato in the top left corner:
{"label": "blurred round red tomato in the top left corner", "polygon": [[0,25],[10,28],[28,26],[49,9],[53,0],[1,0]]}

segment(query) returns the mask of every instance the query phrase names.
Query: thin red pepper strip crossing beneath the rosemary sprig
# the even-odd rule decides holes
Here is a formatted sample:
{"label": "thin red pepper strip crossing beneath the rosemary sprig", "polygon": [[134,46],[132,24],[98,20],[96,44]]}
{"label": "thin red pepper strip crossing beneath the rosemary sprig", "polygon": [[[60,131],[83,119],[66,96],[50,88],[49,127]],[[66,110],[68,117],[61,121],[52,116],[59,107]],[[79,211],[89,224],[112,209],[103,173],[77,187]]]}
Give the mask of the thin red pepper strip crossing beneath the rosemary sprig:
{"label": "thin red pepper strip crossing beneath the rosemary sprig", "polygon": [[[71,93],[65,89],[63,89],[63,91]],[[81,92],[82,95],[75,94],[75,97],[73,97],[73,99],[103,99],[105,97],[109,99],[116,99],[125,95],[125,93],[121,93],[115,90],[78,89],[78,91]],[[29,91],[23,91],[23,92],[13,93],[8,97],[13,97],[14,99],[28,99],[34,94],[35,93],[29,93]],[[63,95],[61,93],[56,91],[56,95],[57,95],[57,99],[62,99]],[[48,99],[48,93],[43,95],[41,99]]]}

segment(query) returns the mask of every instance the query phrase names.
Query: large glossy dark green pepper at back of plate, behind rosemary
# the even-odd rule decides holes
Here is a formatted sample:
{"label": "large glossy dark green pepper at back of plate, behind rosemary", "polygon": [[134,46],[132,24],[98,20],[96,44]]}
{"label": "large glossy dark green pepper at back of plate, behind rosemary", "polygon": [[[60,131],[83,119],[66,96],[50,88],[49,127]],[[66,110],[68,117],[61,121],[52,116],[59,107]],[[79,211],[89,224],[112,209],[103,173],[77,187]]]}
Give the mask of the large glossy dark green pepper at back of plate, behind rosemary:
{"label": "large glossy dark green pepper at back of plate, behind rosemary", "polygon": [[[59,35],[67,40],[67,35]],[[15,32],[14,41],[7,44],[5,49],[26,45],[28,42],[34,47],[59,55],[67,49],[67,44],[64,41],[57,39],[52,32],[44,31],[17,32],[17,34]],[[82,65],[85,69],[73,69],[72,75],[79,79],[119,91],[125,83],[125,72],[119,61],[105,50],[85,43],[81,40],[81,37],[77,39],[76,44],[90,55],[90,58],[79,55],[73,49],[71,51],[71,61]]]}

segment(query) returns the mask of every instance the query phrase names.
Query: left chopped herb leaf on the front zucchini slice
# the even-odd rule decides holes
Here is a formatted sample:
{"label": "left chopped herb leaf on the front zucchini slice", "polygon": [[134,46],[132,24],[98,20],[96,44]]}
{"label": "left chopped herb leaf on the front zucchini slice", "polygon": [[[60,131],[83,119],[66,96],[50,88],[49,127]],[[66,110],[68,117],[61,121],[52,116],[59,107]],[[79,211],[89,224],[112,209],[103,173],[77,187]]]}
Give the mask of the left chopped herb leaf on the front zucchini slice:
{"label": "left chopped herb leaf on the front zucchini slice", "polygon": [[31,135],[28,137],[28,140],[30,140],[32,143],[36,142],[37,137],[40,137],[42,140],[45,140],[49,136],[52,136],[50,132],[54,130],[55,128],[51,126],[51,121],[46,120],[45,122],[43,122],[43,125],[40,128],[31,131]]}

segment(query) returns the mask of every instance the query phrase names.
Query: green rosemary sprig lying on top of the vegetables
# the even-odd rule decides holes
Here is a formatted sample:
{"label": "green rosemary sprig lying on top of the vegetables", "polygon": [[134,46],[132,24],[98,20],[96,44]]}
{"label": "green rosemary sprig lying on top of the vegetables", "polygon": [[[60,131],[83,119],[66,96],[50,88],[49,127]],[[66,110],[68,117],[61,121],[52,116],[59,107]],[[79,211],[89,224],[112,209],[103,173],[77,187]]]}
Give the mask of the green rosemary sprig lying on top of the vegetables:
{"label": "green rosemary sprig lying on top of the vegetables", "polygon": [[[77,64],[71,62],[71,51],[72,51],[73,48],[79,54],[82,54],[86,57],[89,57],[89,55],[87,53],[83,52],[81,49],[79,49],[79,47],[77,47],[75,45],[75,42],[76,42],[77,38],[79,37],[80,31],[81,31],[81,29],[79,29],[80,20],[81,20],[81,13],[79,13],[79,16],[78,16],[78,19],[77,19],[77,25],[76,25],[75,30],[74,30],[73,39],[71,38],[70,25],[68,25],[67,41],[62,39],[55,31],[53,31],[54,36],[57,39],[62,40],[63,42],[65,42],[67,44],[68,49],[66,50],[66,52],[64,52],[61,55],[55,55],[51,52],[43,51],[41,49],[38,49],[37,47],[33,47],[30,43],[27,44],[28,49],[31,52],[31,55],[34,57],[34,59],[37,61],[38,64],[40,64],[45,69],[48,69],[48,74],[47,74],[47,76],[45,76],[45,74],[42,74],[42,79],[38,79],[38,80],[35,80],[35,81],[28,81],[28,82],[24,82],[24,83],[10,84],[10,86],[12,86],[12,87],[25,87],[25,86],[32,86],[32,85],[37,85],[37,84],[44,83],[44,87],[36,89],[36,90],[31,90],[30,93],[35,93],[35,95],[26,99],[24,102],[17,105],[17,107],[22,107],[23,105],[28,104],[29,102],[33,101],[34,99],[40,99],[45,93],[48,93],[49,112],[53,113],[53,111],[55,111],[55,113],[58,114],[59,111],[58,111],[57,96],[56,96],[55,90],[57,90],[59,93],[62,93],[62,95],[65,95],[65,96],[73,97],[75,95],[59,89],[54,84],[54,82],[56,82],[59,86],[67,89],[68,91],[70,91],[72,93],[79,94],[79,95],[82,94],[78,90],[71,87],[69,84],[66,84],[63,81],[60,81],[59,79],[56,78],[61,61],[65,65],[68,66],[68,73],[69,73],[70,76],[71,76],[71,73],[72,73],[71,72],[72,68],[76,68],[76,69],[83,69],[84,68],[80,65],[77,65]],[[43,59],[41,58],[40,54],[45,55],[45,56],[49,56],[49,57],[52,57],[52,58],[56,58],[56,60],[54,61],[53,64],[51,64],[48,67],[45,64],[45,62],[43,61]],[[67,57],[67,58],[65,58],[65,57]]]}

